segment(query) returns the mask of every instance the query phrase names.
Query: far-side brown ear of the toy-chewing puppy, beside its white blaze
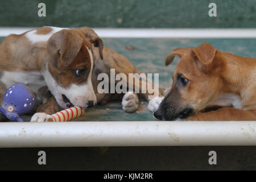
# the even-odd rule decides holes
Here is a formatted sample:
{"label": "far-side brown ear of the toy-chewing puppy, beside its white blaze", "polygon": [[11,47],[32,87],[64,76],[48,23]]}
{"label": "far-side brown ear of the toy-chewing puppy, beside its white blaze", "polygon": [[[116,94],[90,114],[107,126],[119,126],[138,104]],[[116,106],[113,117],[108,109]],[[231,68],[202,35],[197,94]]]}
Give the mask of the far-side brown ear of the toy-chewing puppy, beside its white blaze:
{"label": "far-side brown ear of the toy-chewing puppy, beside its white blaze", "polygon": [[104,48],[103,40],[89,27],[81,27],[76,30],[82,32],[85,38],[90,41],[94,45],[94,47],[98,47],[98,53],[100,54],[101,59],[103,60],[102,50]]}

